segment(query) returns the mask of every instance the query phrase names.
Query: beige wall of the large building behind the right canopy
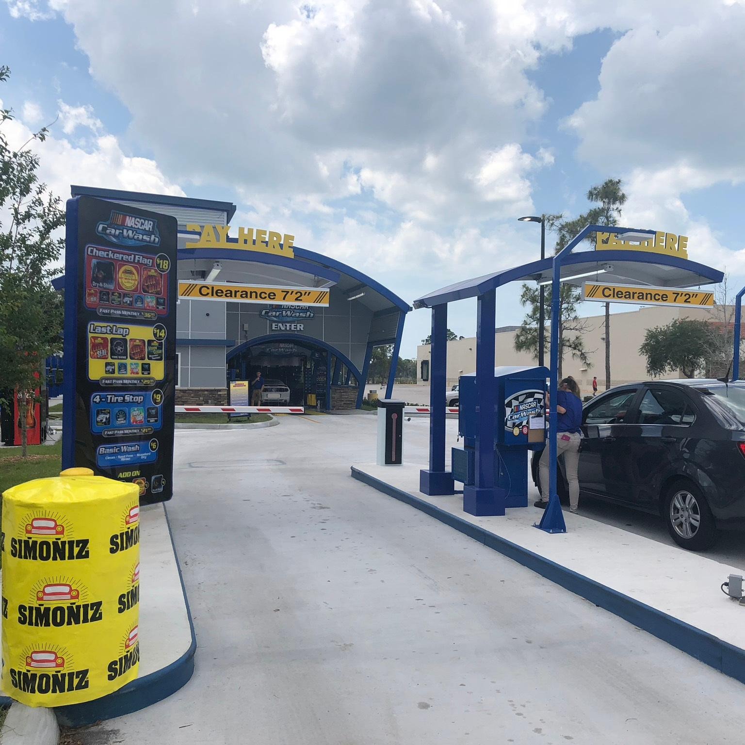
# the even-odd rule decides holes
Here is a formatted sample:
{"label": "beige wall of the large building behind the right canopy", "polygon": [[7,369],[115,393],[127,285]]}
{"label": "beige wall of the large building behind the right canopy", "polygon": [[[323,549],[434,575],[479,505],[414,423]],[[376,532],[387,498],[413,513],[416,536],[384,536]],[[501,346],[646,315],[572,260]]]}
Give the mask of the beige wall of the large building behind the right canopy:
{"label": "beige wall of the large building behind the right canopy", "polygon": [[[598,304],[599,308],[603,308]],[[710,320],[711,311],[706,308],[668,308],[664,305],[652,305],[638,311],[614,313],[610,317],[610,369],[611,384],[620,385],[640,380],[648,380],[646,358],[639,353],[639,346],[644,341],[647,329],[653,326],[665,326],[676,318]],[[583,395],[592,393],[592,376],[597,375],[598,390],[605,390],[605,316],[589,316],[585,332],[585,349],[589,352],[589,365],[585,366],[567,353],[564,358],[562,373],[572,375],[582,389]],[[509,329],[509,330],[507,330]],[[527,352],[515,351],[515,326],[508,326],[504,331],[495,334],[496,365],[534,365],[536,360]],[[548,333],[548,329],[547,329]],[[548,367],[548,346],[546,349]],[[429,360],[430,346],[419,345],[416,348],[416,382],[422,381],[422,360]],[[476,369],[476,339],[469,337],[448,342],[447,378],[448,385],[457,383],[463,373],[473,373]],[[676,373],[665,375],[675,377]],[[682,377],[682,375],[681,375]]]}

